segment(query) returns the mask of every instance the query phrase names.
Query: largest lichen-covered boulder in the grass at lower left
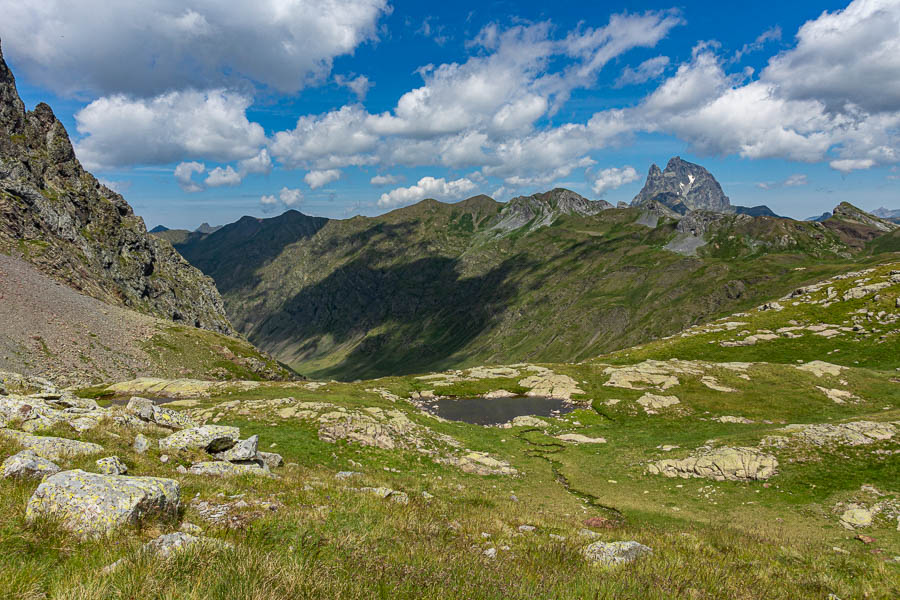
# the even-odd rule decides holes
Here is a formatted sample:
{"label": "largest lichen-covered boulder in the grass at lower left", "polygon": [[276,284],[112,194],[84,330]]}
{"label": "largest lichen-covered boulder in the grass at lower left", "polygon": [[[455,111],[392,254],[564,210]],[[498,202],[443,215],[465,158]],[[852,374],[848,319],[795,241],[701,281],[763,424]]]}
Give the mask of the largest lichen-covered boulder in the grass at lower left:
{"label": "largest lichen-covered boulder in the grass at lower left", "polygon": [[25,517],[55,517],[77,535],[96,537],[153,516],[174,518],[180,502],[181,487],[174,479],[75,469],[45,478],[28,501]]}

